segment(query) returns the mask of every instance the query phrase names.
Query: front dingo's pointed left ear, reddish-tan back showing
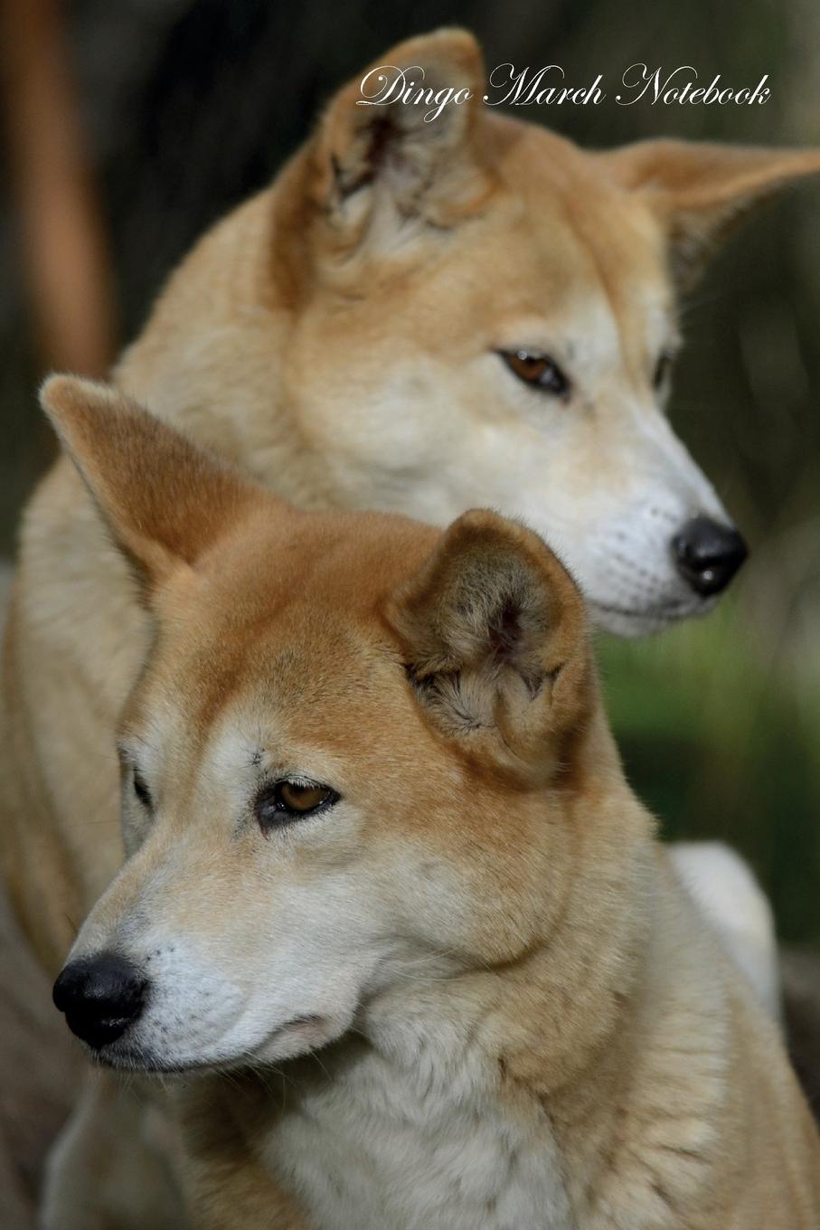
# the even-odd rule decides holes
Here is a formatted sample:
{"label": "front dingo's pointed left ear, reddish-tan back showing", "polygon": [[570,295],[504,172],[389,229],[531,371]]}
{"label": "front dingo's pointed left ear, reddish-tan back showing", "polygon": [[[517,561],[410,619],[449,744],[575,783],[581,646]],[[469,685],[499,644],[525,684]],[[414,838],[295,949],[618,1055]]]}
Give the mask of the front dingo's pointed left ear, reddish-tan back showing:
{"label": "front dingo's pointed left ear, reddish-tan back showing", "polygon": [[141,581],[193,565],[264,492],[116,389],[49,376],[41,402]]}

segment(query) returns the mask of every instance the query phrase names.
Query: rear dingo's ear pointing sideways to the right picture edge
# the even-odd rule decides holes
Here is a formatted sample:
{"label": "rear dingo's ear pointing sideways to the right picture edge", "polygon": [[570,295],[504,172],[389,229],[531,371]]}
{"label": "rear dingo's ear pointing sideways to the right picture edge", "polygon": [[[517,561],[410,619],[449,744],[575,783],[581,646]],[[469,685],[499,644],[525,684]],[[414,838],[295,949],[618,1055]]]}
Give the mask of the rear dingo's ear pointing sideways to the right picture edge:
{"label": "rear dingo's ear pointing sideways to the right picture edge", "polygon": [[754,205],[792,180],[820,171],[819,150],[679,140],[638,141],[601,157],[623,187],[650,199],[666,229],[672,271],[684,290]]}

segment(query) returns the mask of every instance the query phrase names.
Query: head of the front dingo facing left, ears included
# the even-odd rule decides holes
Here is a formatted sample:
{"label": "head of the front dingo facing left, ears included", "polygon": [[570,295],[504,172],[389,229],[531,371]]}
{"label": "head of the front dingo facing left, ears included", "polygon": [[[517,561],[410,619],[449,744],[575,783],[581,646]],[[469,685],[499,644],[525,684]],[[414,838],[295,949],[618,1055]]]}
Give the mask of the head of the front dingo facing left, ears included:
{"label": "head of the front dingo facing left, ears included", "polygon": [[119,731],[129,859],[55,985],[71,1028],[119,1066],[275,1060],[419,962],[537,943],[579,801],[621,781],[541,540],[299,513],[103,386],[44,402],[156,621]]}

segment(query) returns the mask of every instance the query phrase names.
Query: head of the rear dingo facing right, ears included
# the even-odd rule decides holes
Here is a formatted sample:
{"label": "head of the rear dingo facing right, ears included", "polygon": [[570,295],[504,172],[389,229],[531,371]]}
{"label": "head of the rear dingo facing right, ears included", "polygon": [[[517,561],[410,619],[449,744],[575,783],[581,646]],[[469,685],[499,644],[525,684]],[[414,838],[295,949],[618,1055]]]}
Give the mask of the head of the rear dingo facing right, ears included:
{"label": "head of the rear dingo facing right, ears included", "polygon": [[[254,469],[299,499],[438,525],[476,506],[522,517],[611,631],[709,610],[745,546],[664,416],[677,295],[752,204],[820,155],[674,140],[581,151],[486,107],[479,50],[460,31],[382,64],[471,98],[430,119],[411,102],[361,106],[363,73],[278,181],[264,277],[289,325],[267,344],[296,453]],[[269,355],[241,368],[219,385],[227,410]],[[211,395],[213,379],[211,363]]]}

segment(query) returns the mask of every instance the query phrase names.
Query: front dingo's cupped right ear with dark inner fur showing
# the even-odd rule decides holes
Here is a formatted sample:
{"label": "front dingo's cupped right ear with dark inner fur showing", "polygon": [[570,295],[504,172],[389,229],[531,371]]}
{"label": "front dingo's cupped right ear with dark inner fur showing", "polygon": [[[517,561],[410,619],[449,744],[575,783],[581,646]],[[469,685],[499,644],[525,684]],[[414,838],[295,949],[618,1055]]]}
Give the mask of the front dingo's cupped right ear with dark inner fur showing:
{"label": "front dingo's cupped right ear with dark inner fur showing", "polygon": [[408,678],[445,734],[529,777],[566,759],[589,712],[586,617],[574,582],[531,530],[471,512],[391,599]]}

